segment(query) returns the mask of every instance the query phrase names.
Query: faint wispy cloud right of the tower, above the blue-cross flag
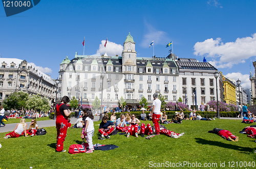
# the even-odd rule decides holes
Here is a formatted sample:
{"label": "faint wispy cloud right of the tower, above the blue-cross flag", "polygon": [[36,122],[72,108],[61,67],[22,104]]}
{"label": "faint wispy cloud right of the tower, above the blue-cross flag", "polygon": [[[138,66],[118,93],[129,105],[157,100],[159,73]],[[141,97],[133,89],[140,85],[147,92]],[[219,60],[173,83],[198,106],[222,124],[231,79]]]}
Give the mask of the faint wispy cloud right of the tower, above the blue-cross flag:
{"label": "faint wispy cloud right of the tower, above the blue-cross flag", "polygon": [[163,31],[156,30],[152,25],[145,22],[147,33],[143,36],[141,46],[144,48],[149,48],[151,42],[154,40],[154,45],[162,44],[166,45],[169,43],[169,38],[167,38],[167,33]]}

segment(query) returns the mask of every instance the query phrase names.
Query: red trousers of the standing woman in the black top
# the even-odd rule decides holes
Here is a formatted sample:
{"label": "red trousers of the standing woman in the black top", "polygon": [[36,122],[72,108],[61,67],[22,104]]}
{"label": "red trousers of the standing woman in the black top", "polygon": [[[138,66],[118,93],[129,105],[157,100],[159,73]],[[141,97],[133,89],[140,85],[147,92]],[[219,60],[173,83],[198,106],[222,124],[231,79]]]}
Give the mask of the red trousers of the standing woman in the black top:
{"label": "red trousers of the standing woman in the black top", "polygon": [[63,150],[63,142],[67,136],[68,120],[66,119],[56,119],[56,129],[57,129],[57,147],[56,151],[60,152]]}

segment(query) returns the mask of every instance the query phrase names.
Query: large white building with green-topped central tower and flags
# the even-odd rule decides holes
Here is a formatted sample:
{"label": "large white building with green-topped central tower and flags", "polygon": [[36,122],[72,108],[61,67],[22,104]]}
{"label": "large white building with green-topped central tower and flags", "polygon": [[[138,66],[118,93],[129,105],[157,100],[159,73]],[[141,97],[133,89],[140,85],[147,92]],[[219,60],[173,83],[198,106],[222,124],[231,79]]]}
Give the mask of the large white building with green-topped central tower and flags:
{"label": "large white building with green-topped central tower and flags", "polygon": [[[175,54],[174,54],[175,55]],[[60,64],[58,99],[75,96],[82,104],[92,104],[96,96],[103,104],[115,107],[121,97],[127,105],[139,105],[144,96],[148,105],[153,103],[153,94],[161,93],[166,101],[177,101],[179,97],[187,104],[200,105],[216,96],[216,69],[209,63],[193,59],[139,58],[133,37],[129,35],[123,43],[122,56],[108,57],[78,55]],[[102,78],[101,74],[105,74]],[[102,88],[103,87],[103,88]],[[184,91],[184,89],[186,89]],[[197,91],[194,95],[192,90]]]}

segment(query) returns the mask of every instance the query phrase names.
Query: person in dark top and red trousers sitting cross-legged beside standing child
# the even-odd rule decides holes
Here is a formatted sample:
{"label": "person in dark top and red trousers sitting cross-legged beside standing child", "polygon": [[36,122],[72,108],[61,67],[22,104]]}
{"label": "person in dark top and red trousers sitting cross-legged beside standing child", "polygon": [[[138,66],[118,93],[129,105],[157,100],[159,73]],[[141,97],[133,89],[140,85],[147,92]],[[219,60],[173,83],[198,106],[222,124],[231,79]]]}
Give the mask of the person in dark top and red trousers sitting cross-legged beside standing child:
{"label": "person in dark top and red trousers sitting cross-legged beside standing child", "polygon": [[101,137],[110,139],[109,135],[114,129],[115,125],[111,121],[108,121],[108,117],[104,116],[102,122],[99,124],[99,133],[101,134]]}

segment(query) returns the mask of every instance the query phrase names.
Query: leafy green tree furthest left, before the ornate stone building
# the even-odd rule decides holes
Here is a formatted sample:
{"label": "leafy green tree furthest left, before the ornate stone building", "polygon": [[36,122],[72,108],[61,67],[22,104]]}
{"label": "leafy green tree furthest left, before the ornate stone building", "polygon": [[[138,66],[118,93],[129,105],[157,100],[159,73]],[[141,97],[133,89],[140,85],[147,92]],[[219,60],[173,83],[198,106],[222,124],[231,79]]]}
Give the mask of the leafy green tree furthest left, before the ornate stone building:
{"label": "leafy green tree furthest left, before the ornate stone building", "polygon": [[24,109],[28,99],[29,94],[27,92],[13,92],[4,99],[3,106],[5,109]]}

